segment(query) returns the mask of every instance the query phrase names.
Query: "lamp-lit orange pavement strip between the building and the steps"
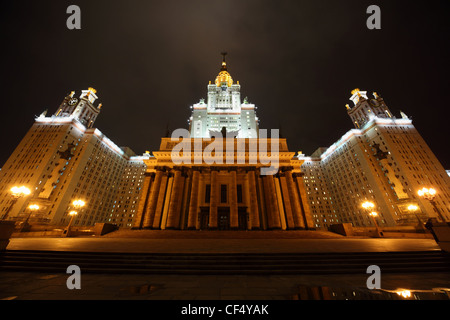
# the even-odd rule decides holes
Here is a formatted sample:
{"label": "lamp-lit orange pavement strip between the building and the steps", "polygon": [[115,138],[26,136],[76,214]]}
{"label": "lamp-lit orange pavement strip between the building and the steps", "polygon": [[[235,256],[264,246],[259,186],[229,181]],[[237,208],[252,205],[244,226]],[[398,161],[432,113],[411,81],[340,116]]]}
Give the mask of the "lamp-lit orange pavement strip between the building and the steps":
{"label": "lamp-lit orange pavement strip between the building and the steps", "polygon": [[[243,245],[245,243],[245,245]],[[389,252],[440,250],[430,239],[13,238],[9,250],[169,253]]]}

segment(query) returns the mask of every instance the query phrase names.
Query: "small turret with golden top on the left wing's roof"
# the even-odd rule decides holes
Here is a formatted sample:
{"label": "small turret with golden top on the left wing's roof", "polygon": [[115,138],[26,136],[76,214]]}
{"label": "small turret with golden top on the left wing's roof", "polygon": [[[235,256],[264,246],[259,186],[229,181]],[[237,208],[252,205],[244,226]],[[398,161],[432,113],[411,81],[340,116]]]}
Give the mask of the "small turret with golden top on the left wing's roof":
{"label": "small turret with golden top on the left wing's roof", "polygon": [[86,128],[92,128],[95,119],[102,104],[94,105],[95,100],[98,99],[97,91],[94,88],[82,90],[79,98],[75,97],[75,91],[67,95],[58,110],[54,114],[56,117],[72,117],[80,121]]}

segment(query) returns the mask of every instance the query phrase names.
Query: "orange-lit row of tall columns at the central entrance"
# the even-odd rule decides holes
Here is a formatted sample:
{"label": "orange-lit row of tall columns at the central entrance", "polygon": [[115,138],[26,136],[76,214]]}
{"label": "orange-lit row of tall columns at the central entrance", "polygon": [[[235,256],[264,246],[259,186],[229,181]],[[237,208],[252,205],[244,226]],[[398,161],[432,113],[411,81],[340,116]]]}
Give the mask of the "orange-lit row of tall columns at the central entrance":
{"label": "orange-lit row of tall columns at the central entrance", "polygon": [[292,167],[273,176],[256,167],[156,167],[146,173],[133,228],[313,229],[306,197]]}

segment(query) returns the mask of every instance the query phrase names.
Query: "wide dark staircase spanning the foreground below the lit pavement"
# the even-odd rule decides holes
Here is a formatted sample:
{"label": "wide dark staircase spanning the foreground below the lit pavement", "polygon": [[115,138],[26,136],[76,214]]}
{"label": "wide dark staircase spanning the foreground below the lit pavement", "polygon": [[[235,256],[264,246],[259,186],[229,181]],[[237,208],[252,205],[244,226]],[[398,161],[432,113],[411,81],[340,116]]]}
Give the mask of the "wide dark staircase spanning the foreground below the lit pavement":
{"label": "wide dark staircase spanning the foreground below the lit pavement", "polygon": [[383,253],[156,254],[6,250],[0,271],[181,275],[366,274],[450,272],[450,255],[442,251]]}

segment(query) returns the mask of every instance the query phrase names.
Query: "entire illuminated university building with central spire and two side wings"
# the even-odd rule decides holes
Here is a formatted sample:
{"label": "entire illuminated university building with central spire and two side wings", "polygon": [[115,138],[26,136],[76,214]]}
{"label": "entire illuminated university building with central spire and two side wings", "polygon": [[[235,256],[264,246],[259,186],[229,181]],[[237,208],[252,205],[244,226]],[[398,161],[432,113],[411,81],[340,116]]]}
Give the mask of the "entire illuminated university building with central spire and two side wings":
{"label": "entire illuminated university building with central spire and two side wings", "polygon": [[[292,152],[277,131],[259,128],[257,107],[241,98],[225,55],[207,100],[194,104],[188,129],[136,156],[94,128],[102,105],[93,88],[68,94],[46,112],[0,171],[0,217],[67,225],[109,222],[133,229],[313,230],[332,224],[381,227],[450,220],[450,177],[404,113],[355,89],[347,112],[355,128],[311,156]],[[13,186],[31,194],[11,196]],[[434,205],[419,197],[436,189]],[[412,212],[414,205],[418,210]]]}

